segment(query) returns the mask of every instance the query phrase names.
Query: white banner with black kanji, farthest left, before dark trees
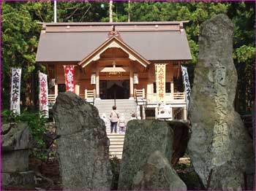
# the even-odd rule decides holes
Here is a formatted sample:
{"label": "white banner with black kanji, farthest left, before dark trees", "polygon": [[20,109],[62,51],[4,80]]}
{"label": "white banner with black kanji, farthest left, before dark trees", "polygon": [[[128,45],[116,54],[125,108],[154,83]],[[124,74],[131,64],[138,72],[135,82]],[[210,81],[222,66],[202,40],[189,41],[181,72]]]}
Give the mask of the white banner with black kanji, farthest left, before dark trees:
{"label": "white banner with black kanji, farthest left, before dark trees", "polygon": [[12,68],[10,110],[16,114],[20,114],[20,81],[21,69]]}

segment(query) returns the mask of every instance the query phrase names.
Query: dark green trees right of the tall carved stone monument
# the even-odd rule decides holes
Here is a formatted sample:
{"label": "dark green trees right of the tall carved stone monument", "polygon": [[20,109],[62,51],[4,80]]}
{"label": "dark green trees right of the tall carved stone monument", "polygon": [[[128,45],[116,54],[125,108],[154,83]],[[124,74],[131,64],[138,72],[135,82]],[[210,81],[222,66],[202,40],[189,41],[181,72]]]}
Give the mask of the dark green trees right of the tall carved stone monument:
{"label": "dark green trees right of the tall carved stone monument", "polygon": [[236,110],[254,109],[255,98],[255,2],[230,4],[227,15],[234,23],[233,58],[238,71]]}

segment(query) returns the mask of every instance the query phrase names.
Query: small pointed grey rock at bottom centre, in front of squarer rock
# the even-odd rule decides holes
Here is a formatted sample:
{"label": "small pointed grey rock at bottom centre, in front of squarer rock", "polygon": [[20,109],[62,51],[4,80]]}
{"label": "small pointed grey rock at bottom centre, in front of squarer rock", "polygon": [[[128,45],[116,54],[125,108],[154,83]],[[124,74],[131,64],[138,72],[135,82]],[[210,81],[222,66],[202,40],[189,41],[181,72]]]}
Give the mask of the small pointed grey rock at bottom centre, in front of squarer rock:
{"label": "small pointed grey rock at bottom centre, in front of squarer rock", "polygon": [[187,186],[167,158],[155,151],[133,179],[132,190],[187,190]]}

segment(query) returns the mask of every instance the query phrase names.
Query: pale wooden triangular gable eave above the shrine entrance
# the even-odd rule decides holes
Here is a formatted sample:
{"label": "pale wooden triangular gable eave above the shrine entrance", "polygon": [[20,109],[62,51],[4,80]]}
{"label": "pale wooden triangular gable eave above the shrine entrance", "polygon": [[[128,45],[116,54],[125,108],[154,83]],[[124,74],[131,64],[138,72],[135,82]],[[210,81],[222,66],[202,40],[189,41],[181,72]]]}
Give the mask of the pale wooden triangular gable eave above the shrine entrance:
{"label": "pale wooden triangular gable eave above the shrine entrance", "polygon": [[127,44],[122,42],[120,39],[116,38],[116,36],[111,37],[107,41],[105,41],[100,47],[98,47],[96,50],[91,52],[86,58],[83,58],[80,63],[78,63],[79,66],[82,66],[83,68],[87,66],[92,61],[98,61],[100,59],[100,55],[102,52],[105,52],[108,48],[121,48],[124,52],[126,52],[129,55],[129,59],[132,61],[138,61],[144,68],[146,68],[150,62],[147,61],[145,58],[143,58],[138,52],[135,52],[135,50],[132,50],[131,47],[129,47]]}

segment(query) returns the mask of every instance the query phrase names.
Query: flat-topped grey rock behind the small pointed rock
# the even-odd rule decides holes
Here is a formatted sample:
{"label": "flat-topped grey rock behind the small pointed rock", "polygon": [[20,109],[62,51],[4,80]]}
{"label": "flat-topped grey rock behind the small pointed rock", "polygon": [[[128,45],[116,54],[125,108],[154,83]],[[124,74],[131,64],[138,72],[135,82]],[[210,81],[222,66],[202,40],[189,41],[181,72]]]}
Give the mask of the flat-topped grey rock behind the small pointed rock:
{"label": "flat-topped grey rock behind the small pointed rock", "polygon": [[152,152],[159,150],[171,160],[173,130],[159,120],[131,120],[127,123],[118,190],[131,190],[132,179]]}

